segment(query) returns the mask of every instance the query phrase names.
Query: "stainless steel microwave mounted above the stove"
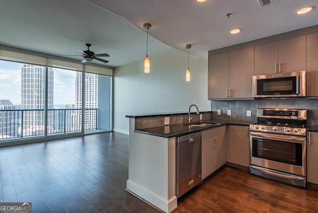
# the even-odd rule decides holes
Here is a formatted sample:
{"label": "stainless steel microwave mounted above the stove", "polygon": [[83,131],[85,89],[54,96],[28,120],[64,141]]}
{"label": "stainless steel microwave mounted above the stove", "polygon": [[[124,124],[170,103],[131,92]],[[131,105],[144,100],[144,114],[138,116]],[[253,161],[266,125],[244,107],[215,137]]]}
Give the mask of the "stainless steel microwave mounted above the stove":
{"label": "stainless steel microwave mounted above the stove", "polygon": [[253,97],[306,97],[306,71],[253,76]]}

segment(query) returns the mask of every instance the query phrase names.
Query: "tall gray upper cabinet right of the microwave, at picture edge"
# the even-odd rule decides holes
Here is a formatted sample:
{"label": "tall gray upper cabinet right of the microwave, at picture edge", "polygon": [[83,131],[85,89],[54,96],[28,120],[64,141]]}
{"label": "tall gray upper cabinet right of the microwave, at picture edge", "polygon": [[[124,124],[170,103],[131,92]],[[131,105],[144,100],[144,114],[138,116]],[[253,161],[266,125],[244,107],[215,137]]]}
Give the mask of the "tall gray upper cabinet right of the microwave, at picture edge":
{"label": "tall gray upper cabinet right of the microwave, at picture edge", "polygon": [[307,96],[318,96],[318,33],[307,35]]}

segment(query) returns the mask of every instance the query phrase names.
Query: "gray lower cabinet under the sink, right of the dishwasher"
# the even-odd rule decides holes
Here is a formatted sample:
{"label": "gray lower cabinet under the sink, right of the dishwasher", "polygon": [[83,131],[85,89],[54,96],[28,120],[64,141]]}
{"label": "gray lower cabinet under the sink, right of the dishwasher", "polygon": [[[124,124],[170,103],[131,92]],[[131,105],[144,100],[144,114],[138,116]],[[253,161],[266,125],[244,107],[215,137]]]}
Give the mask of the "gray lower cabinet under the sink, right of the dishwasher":
{"label": "gray lower cabinet under the sink, right of the dishwasher", "polygon": [[226,163],[226,125],[202,131],[202,180]]}

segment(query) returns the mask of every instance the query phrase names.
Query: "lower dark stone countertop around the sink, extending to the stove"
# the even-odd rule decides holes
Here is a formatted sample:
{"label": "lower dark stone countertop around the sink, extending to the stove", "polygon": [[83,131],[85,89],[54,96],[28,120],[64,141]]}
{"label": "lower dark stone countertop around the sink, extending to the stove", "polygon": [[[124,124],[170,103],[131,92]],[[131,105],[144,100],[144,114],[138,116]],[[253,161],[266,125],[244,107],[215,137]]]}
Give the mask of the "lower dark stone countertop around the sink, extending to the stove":
{"label": "lower dark stone countertop around the sink, extending to the stove", "polygon": [[210,119],[210,120],[203,120],[202,122],[209,122],[209,123],[215,123],[215,124],[209,125],[209,126],[189,126],[186,123],[179,123],[179,124],[157,126],[157,127],[144,128],[144,129],[138,129],[138,130],[136,129],[135,132],[170,138],[170,137],[179,137],[182,135],[195,133],[195,132],[199,132],[202,130],[206,130],[206,129],[210,129],[210,128],[214,128],[214,127],[226,125],[226,124],[248,126],[249,124],[255,123],[256,121]]}

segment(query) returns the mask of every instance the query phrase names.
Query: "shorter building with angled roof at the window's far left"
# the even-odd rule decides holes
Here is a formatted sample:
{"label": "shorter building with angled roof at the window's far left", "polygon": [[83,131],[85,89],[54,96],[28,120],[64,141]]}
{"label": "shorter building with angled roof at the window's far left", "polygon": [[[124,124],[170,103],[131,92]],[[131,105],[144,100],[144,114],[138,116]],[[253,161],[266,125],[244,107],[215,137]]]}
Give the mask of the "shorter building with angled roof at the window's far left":
{"label": "shorter building with angled roof at the window's far left", "polygon": [[18,136],[18,112],[9,100],[0,100],[0,138]]}

